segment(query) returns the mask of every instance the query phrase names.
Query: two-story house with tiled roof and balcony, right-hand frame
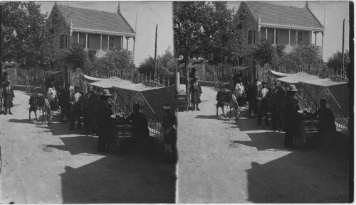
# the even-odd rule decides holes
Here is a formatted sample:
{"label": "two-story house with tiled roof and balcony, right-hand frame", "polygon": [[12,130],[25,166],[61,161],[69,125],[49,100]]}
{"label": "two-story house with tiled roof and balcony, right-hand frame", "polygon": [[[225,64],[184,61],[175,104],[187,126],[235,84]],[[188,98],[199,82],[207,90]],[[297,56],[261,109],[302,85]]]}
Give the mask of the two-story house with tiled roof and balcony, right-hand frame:
{"label": "two-story house with tiled roof and balcony, right-hand frame", "polygon": [[[304,8],[281,6],[260,1],[241,2],[237,15],[245,18],[244,31],[248,45],[256,45],[260,40],[268,40],[273,45],[286,45],[286,52],[298,45],[317,45],[323,53],[325,29],[308,6]],[[252,48],[248,47],[244,65],[253,64]],[[256,70],[253,70],[256,72]],[[256,73],[253,74],[255,76]],[[251,74],[248,74],[251,76]]]}

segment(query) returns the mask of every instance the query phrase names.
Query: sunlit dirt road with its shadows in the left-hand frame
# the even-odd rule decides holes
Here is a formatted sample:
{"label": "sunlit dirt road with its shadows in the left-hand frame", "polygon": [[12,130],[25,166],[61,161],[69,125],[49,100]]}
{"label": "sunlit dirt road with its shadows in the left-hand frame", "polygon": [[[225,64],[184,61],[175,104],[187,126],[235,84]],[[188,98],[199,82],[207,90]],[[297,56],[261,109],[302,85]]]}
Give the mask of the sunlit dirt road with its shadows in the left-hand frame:
{"label": "sunlit dirt road with its shadows in the left-hand frame", "polygon": [[176,177],[157,155],[100,154],[60,116],[28,121],[29,96],[15,95],[14,115],[0,115],[0,204],[174,203]]}

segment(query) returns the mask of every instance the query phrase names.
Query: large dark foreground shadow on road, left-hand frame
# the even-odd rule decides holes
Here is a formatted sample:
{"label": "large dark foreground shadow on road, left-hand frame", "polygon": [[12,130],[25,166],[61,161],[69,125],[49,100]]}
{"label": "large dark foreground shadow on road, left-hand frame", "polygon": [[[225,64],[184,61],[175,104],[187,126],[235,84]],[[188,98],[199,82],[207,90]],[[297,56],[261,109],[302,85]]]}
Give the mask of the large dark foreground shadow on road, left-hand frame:
{"label": "large dark foreground shadow on road, left-hand frame", "polygon": [[63,204],[174,203],[175,175],[148,156],[106,156],[65,169]]}

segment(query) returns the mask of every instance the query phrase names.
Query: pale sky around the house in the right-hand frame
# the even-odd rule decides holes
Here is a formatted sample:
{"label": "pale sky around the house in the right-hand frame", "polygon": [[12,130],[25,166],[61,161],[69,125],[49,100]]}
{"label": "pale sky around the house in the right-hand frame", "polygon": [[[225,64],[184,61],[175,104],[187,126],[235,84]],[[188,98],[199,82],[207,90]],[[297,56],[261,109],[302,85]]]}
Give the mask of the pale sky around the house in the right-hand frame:
{"label": "pale sky around the house in the right-hand frame", "polygon": [[[266,1],[269,4],[283,6],[305,7],[305,1]],[[239,9],[241,1],[229,1],[230,9]],[[349,49],[349,2],[348,1],[308,1],[309,8],[320,23],[324,23],[325,9],[325,32],[323,46],[323,60],[333,55],[337,50],[342,50],[342,21],[345,18],[345,49]],[[315,35],[312,35],[312,42],[315,42]],[[321,34],[318,34],[317,45],[321,45]]]}

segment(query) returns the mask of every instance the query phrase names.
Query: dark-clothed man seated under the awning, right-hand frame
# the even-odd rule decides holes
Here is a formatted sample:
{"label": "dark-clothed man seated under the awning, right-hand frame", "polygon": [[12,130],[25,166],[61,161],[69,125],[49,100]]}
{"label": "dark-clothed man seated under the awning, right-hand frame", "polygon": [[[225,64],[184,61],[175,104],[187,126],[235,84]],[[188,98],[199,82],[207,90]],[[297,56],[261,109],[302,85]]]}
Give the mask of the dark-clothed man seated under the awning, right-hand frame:
{"label": "dark-clothed man seated under the awning, right-hand frame", "polygon": [[319,120],[318,140],[328,140],[336,131],[336,126],[333,111],[326,107],[325,99],[320,99],[320,109],[314,113],[314,117]]}

